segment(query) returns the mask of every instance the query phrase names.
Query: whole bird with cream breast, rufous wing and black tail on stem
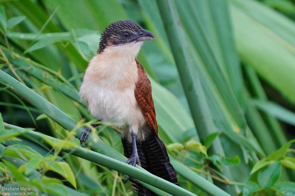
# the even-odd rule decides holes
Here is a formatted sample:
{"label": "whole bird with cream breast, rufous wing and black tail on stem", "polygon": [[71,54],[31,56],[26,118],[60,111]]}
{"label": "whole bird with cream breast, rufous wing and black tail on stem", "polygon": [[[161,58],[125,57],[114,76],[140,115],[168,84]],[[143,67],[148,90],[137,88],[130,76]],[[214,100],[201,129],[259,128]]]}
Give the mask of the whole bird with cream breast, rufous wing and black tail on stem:
{"label": "whole bird with cream breast, rufous wing and black tail on stem", "polygon": [[[97,53],[86,68],[79,95],[94,118],[113,122],[122,130],[127,164],[140,165],[179,185],[177,173],[158,136],[150,80],[136,59],[144,41],[155,39],[152,32],[131,20],[107,26]],[[90,134],[91,129],[85,127],[80,137],[82,146]],[[134,179],[130,181],[138,195],[156,195]]]}

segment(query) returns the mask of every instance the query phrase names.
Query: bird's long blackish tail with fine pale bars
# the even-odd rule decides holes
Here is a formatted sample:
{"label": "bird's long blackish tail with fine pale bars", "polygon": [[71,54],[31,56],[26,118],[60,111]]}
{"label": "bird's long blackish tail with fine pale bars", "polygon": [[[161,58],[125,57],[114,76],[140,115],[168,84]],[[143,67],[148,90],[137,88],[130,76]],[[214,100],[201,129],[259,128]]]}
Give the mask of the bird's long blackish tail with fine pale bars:
{"label": "bird's long blackish tail with fine pale bars", "polygon": [[[129,158],[132,154],[132,144],[122,138],[124,155]],[[136,142],[141,167],[150,173],[178,185],[177,174],[170,163],[165,145],[158,135],[150,132],[144,141]],[[138,195],[153,196],[154,192],[130,179]]]}

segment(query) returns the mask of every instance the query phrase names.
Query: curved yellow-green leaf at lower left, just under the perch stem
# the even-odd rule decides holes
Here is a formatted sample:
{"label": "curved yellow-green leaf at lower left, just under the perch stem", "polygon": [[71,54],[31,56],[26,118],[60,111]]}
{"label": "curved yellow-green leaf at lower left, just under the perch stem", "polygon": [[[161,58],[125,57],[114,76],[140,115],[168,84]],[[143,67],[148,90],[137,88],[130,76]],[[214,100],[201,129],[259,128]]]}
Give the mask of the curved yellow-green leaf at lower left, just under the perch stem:
{"label": "curved yellow-green leaf at lower left, just under the perch stem", "polygon": [[66,180],[68,180],[75,188],[77,188],[75,175],[68,163],[48,161],[47,165],[49,166],[49,170],[57,172],[58,174],[63,176]]}

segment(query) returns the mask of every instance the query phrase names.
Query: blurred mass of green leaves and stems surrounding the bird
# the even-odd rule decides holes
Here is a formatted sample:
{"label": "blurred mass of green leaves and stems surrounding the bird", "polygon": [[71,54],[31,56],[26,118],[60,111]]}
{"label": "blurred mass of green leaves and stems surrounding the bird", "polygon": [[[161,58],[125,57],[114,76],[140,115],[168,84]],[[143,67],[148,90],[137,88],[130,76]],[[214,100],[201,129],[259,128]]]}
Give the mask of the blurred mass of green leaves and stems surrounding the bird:
{"label": "blurred mass of green leaves and stems surrounding the bird", "polygon": [[[69,134],[74,127],[56,120],[63,114],[51,110],[49,102],[78,127],[93,122],[79,102],[83,72],[106,26],[130,19],[157,37],[145,42],[138,60],[152,82],[159,135],[181,187],[196,195],[222,195],[196,180],[201,176],[229,195],[295,195],[294,0],[0,4],[0,112],[5,122],[0,132],[1,186],[20,185],[22,180],[12,172],[19,167],[36,195],[136,195],[130,182],[122,183],[120,172],[7,131],[17,129],[12,125],[30,127],[78,144]],[[18,91],[14,85],[20,83],[49,106]],[[123,153],[112,124],[96,130],[104,145]],[[19,148],[30,148],[42,158],[26,156]],[[25,167],[9,165],[19,159]],[[62,166],[52,166],[56,160]],[[32,177],[32,172],[39,175]]]}

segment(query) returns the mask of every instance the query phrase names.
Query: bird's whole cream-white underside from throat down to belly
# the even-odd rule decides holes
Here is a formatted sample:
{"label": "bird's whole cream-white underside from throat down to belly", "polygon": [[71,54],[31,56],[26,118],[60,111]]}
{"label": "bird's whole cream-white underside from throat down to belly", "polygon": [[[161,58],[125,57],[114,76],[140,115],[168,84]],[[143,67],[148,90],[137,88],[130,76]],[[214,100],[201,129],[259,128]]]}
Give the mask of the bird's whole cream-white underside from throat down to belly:
{"label": "bird's whole cream-white underside from throat down to belly", "polygon": [[135,57],[141,45],[142,42],[111,46],[94,56],[80,88],[81,100],[88,105],[92,116],[120,123],[118,128],[124,133],[133,130],[140,138],[144,137],[141,130],[146,123],[134,89],[138,80]]}

